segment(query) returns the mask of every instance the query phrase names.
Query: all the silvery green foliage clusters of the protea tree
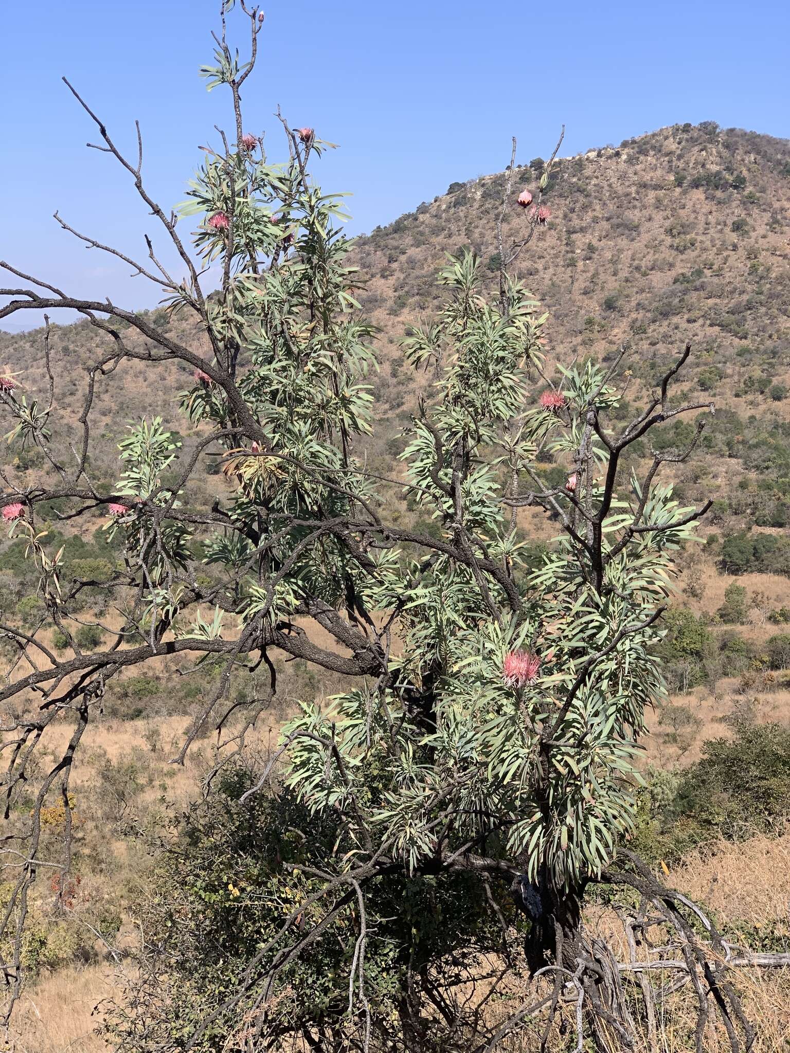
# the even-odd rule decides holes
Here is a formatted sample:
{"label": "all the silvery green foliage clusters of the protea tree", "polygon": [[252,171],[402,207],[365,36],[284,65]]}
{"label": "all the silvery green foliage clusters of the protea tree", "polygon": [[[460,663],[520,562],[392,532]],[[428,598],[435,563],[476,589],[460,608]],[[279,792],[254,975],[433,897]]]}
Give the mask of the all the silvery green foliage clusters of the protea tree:
{"label": "all the silvery green foliage clusters of the protea tree", "polygon": [[[205,373],[182,396],[193,425],[230,433],[221,442],[234,496],[204,560],[233,579],[242,623],[283,629],[342,612],[383,655],[364,690],[304,700],[283,730],[285,783],[314,812],[340,810],[359,851],[375,841],[412,871],[485,836],[533,880],[575,887],[599,874],[633,827],[635,743],[663,692],[650,618],[670,591],[691,510],[655,488],[640,521],[660,531],[626,537],[643,494],[635,479],[629,493],[607,492],[605,436],[590,426],[591,412],[617,405],[616,391],[586,362],[561,371],[560,410],[542,408],[547,316],[513,279],[491,299],[465,252],[439,275],[440,317],[403,341],[406,358],[435,378],[402,460],[407,491],[438,536],[382,528],[352,446],[371,429],[376,360],[350,292],[350,244],[334,225],[338,199],[309,181],[298,147],[285,165],[241,150],[210,156],[190,195],[183,213],[203,217],[197,249],[225,267],[210,332],[241,400]],[[226,227],[210,225],[217,214]],[[244,414],[259,429],[250,444],[236,439],[249,434]],[[565,457],[579,482],[572,497],[554,497],[567,530],[529,570],[507,499],[538,450]],[[141,425],[123,444],[119,493],[145,498],[176,455],[160,421]],[[596,580],[589,523],[601,501]],[[398,539],[423,551],[415,559]],[[174,567],[183,528],[175,540],[162,550]],[[191,624],[176,621],[175,632],[206,635],[199,615]],[[223,631],[215,619],[212,638]],[[517,650],[540,663],[514,688],[502,670]]]}

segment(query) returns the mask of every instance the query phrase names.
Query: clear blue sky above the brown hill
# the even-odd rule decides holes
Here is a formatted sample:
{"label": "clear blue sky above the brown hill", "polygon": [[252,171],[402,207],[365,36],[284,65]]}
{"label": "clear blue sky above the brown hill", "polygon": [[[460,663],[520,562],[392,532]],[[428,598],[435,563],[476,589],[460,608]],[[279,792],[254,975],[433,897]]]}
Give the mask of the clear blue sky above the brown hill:
{"label": "clear blue sky above the brown hill", "polygon": [[[86,251],[77,230],[144,256],[155,220],[131,179],[104,154],[65,74],[134,150],[163,207],[183,199],[198,145],[232,125],[222,90],[198,66],[211,59],[219,0],[5,0],[0,25],[0,258],[76,296],[153,306],[159,294],[129,267]],[[562,155],[675,122],[716,120],[790,137],[790,4],[687,0],[533,4],[515,0],[271,0],[259,64],[244,92],[246,131],[265,132],[277,159],[277,103],[340,148],[317,176],[351,191],[351,230],[370,231],[454,180],[501,170],[511,135],[518,159]],[[245,44],[246,20],[230,17]],[[159,243],[161,244],[161,238]],[[5,284],[4,277],[0,283]],[[20,316],[6,327],[19,323]],[[29,323],[32,318],[25,319]],[[1,324],[1,323],[0,323]]]}

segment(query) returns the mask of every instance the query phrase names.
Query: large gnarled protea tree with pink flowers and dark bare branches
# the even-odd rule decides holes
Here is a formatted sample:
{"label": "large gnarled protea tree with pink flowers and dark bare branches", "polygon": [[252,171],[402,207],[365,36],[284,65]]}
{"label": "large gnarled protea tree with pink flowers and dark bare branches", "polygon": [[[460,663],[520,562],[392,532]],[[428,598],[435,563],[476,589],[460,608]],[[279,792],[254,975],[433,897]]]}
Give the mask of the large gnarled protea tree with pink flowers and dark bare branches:
{"label": "large gnarled protea tree with pink flowers and dark bare branches", "polygon": [[[673,554],[707,509],[680,508],[657,475],[691,454],[702,424],[641,479],[625,484],[618,465],[665,421],[707,408],[671,399],[690,347],[625,428],[612,419],[625,351],[607,369],[548,367],[546,315],[507,270],[541,222],[536,187],[525,237],[506,249],[499,235],[496,290],[474,254],[448,259],[441,315],[403,344],[411,364],[438,379],[409,430],[402,475],[371,474],[356,451],[374,426],[374,334],[354,296],[340,198],[322,194],[309,167],[331,144],[281,118],[288,159],[269,160],[242,119],[240,91],[262,15],[241,4],[252,53],[240,64],[225,34],[232,6],[202,73],[210,88],[230,88],[234,128],[220,133],[221,147],[205,147],[180,210],[197,218],[193,251],[145,188],[142,146],[127,159],[72,88],[184,277],[147,238],[145,262],[121,258],[164,290],[171,312],[195,320],[195,345],[149,316],[2,264],[17,282],[0,290],[0,317],[72,309],[107,338],[87,371],[74,458],[52,441],[54,381],[33,399],[18,378],[0,378],[12,445],[39,449],[48,465],[24,485],[2,474],[2,516],[25,540],[42,604],[33,628],[0,627],[16,650],[0,690],[8,814],[51,730],[73,729],[6,841],[16,873],[0,940],[9,1005],[41,866],[41,809],[60,795],[71,815],[73,759],[107,681],[182,656],[220,668],[179,759],[216,721],[221,792],[155,890],[162,930],[114,1017],[122,1048],[249,1051],[298,1038],[320,1050],[482,1050],[537,1019],[545,1034],[570,1021],[578,1049],[587,1035],[596,1049],[629,1049],[636,1015],[655,1027],[655,993],[647,979],[626,990],[613,951],[581,923],[585,896],[601,883],[635,893],[629,925],[646,939],[658,926],[675,951],[670,968],[692,978],[698,1044],[712,996],[732,1050],[748,1046],[715,927],[624,847],[645,709],[664,693],[655,645]],[[508,183],[505,206],[517,208],[509,193]],[[220,275],[211,294],[201,286],[209,267]],[[52,378],[46,338],[43,354]],[[87,466],[92,401],[124,360],[151,377],[152,412],[121,443],[106,493]],[[170,361],[192,372],[181,398],[197,437],[189,456],[157,416],[156,369]],[[539,399],[536,388],[546,388]],[[191,479],[218,454],[224,488],[195,506]],[[568,469],[552,488],[536,469],[547,454]],[[382,494],[393,491],[435,529],[384,521]],[[536,570],[518,531],[525,505],[562,532]],[[103,518],[122,539],[123,565],[101,582],[123,616],[112,635],[105,627],[108,642],[88,650],[80,638],[74,605],[97,582],[61,581],[45,515]],[[47,629],[71,654],[50,649]],[[277,691],[275,653],[340,674],[348,689],[304,699],[264,770],[245,779],[241,748]],[[232,683],[260,670],[268,689],[233,698]],[[519,1000],[519,972],[549,982]]]}

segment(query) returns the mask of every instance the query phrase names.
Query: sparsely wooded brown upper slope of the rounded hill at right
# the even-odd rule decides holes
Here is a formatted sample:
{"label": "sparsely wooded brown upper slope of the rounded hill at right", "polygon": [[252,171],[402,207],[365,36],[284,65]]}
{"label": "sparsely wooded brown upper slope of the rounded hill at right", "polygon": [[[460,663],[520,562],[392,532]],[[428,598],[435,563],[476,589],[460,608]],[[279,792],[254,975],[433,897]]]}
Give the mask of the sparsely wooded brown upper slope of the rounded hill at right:
{"label": "sparsely wooded brown upper slope of the rounded hill at right", "polygon": [[[516,196],[535,192],[541,171],[539,159],[516,168],[506,240],[522,236]],[[474,247],[495,285],[503,181],[454,183],[360,239],[358,265],[372,276],[363,303],[391,349],[436,306],[445,251]],[[549,224],[516,270],[551,312],[558,361],[630,340],[647,379],[688,339],[697,375],[713,370],[703,384],[759,412],[759,375],[784,380],[790,363],[789,142],[675,125],[555,162],[546,200]],[[394,379],[381,393],[396,410],[409,401],[397,365]]]}

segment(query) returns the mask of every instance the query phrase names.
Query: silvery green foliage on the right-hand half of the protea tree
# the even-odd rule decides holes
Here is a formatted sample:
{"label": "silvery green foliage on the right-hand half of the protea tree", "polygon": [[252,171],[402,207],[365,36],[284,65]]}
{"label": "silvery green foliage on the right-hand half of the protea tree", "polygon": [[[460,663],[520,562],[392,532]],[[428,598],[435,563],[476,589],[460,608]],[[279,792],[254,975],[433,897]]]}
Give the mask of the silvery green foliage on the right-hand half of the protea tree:
{"label": "silvery green foliage on the right-hand half of the protea tree", "polygon": [[[379,697],[355,693],[330,706],[305,704],[284,732],[296,736],[287,780],[317,811],[342,808],[351,831],[359,824],[360,848],[367,829],[378,829],[388,851],[410,868],[487,834],[487,843],[498,841],[503,854],[521,859],[533,880],[546,867],[557,886],[576,886],[600,873],[633,827],[635,741],[645,707],[663,693],[651,653],[660,631],[635,627],[668,595],[671,551],[689,526],[632,539],[607,567],[600,590],[569,538],[528,573],[497,469],[514,452],[529,463],[539,443],[577,450],[591,395],[613,406],[616,394],[588,363],[566,373],[567,413],[535,409],[531,367],[542,361],[545,321],[537,304],[513,283],[501,314],[481,294],[470,254],[453,260],[441,281],[450,302],[439,324],[406,341],[415,364],[445,362],[435,405],[415,420],[402,455],[408,479],[449,542],[462,537],[474,554],[507,569],[517,602],[474,560],[459,567],[438,554],[429,569],[409,570],[391,560],[366,590],[375,616],[398,612],[401,647],[391,658],[391,687]],[[596,442],[594,461],[604,460]],[[599,501],[595,478],[590,490]],[[587,495],[576,496],[581,502]],[[612,502],[603,524],[607,551],[632,522],[640,496],[634,480],[632,493]],[[644,521],[669,526],[690,511],[672,500],[671,488],[656,489]],[[618,633],[566,708],[585,662]],[[502,681],[506,654],[516,649],[541,658],[539,677],[520,689]],[[408,703],[409,693],[420,691],[432,696],[428,721]],[[327,739],[341,767],[328,763]],[[361,817],[355,801],[367,802]]]}

